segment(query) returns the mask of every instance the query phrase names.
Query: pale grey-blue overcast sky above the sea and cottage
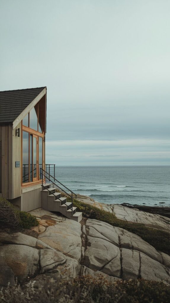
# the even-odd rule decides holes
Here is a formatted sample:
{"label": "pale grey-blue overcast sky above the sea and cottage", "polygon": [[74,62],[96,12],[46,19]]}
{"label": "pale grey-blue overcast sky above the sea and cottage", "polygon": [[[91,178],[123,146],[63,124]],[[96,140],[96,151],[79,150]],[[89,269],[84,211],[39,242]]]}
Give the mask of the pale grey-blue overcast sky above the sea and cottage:
{"label": "pale grey-blue overcast sky above the sea and cottage", "polygon": [[0,90],[47,86],[46,163],[169,165],[169,0],[0,0]]}

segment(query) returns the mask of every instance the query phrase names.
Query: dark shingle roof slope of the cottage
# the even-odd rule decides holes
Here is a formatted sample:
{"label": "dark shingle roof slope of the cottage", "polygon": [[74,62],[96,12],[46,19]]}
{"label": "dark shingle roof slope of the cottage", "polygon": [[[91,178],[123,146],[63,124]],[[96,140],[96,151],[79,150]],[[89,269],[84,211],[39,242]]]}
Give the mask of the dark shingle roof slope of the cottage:
{"label": "dark shingle roof slope of the cottage", "polygon": [[0,92],[0,124],[12,124],[44,87]]}

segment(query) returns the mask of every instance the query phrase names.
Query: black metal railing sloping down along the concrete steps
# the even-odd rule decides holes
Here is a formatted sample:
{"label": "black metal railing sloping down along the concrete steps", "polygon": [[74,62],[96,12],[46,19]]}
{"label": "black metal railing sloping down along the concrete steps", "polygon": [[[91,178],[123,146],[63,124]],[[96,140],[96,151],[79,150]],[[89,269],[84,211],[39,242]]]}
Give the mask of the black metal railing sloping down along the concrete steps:
{"label": "black metal railing sloping down along the concrete steps", "polygon": [[[65,204],[67,206],[67,208],[71,209],[72,215],[73,215],[73,195],[75,195],[75,198],[76,198],[76,194],[73,191],[71,191],[68,187],[66,187],[65,185],[63,185],[60,181],[58,181],[54,176],[50,175],[48,173],[48,171],[45,171],[43,168],[40,168],[40,178],[42,178],[42,185],[41,185],[42,186],[42,190],[43,190],[43,188],[46,188],[50,192],[49,188],[47,188],[49,186],[49,184],[48,185],[44,185],[43,184],[43,177],[45,177],[45,180],[48,180],[53,185],[55,185],[56,187],[58,187],[61,191],[64,191],[70,198],[72,198],[71,206],[65,204],[65,202],[63,202],[60,198],[57,198],[57,199],[60,200],[63,204]],[[62,185],[64,188],[66,188],[68,191],[70,191],[70,194],[68,192],[66,192],[63,188],[61,188],[59,185],[57,185],[54,181],[52,181],[52,179],[55,180],[55,181],[57,181],[60,185]],[[53,195],[55,197],[54,193],[51,193],[51,195]]]}

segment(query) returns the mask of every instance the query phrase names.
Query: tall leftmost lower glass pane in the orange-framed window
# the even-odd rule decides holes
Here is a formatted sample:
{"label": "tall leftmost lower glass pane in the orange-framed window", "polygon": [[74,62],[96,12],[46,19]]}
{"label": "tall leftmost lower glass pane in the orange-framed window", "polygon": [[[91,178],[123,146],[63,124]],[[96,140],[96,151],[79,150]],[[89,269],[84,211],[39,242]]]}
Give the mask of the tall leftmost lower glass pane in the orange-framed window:
{"label": "tall leftmost lower glass pane in the orange-framed window", "polygon": [[29,134],[22,132],[22,183],[29,181]]}

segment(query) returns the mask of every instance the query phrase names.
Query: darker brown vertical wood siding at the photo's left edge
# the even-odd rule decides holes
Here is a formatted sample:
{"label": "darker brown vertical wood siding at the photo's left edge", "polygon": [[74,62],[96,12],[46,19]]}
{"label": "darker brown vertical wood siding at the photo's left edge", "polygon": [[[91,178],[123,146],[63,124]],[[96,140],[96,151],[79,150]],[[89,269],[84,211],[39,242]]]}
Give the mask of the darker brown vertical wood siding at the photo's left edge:
{"label": "darker brown vertical wood siding at the photo's left edge", "polygon": [[12,199],[12,126],[0,127],[2,197]]}

